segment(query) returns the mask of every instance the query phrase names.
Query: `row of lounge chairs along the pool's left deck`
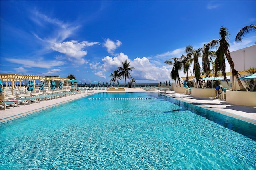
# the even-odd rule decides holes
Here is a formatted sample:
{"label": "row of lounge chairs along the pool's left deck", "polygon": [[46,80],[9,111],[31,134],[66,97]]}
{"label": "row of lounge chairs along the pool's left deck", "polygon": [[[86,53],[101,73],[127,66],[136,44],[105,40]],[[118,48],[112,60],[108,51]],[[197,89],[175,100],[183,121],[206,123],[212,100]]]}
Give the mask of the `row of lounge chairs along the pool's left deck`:
{"label": "row of lounge chairs along the pool's left deck", "polygon": [[5,110],[6,108],[19,107],[20,105],[30,105],[31,103],[37,103],[37,102],[41,102],[41,101],[57,99],[60,97],[75,95],[77,93],[82,93],[82,91],[65,91],[65,92],[58,92],[58,93],[47,93],[47,94],[40,94],[40,95],[11,97],[11,98],[8,98],[7,100],[0,101],[0,109]]}

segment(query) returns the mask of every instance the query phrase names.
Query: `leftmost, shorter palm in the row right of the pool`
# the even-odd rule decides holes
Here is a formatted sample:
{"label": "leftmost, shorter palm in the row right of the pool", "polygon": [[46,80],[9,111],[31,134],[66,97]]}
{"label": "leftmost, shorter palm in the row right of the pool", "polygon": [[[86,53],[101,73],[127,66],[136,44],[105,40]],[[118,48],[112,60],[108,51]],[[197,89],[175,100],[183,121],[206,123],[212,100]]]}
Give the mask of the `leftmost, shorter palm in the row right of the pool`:
{"label": "leftmost, shorter palm in the row right of the pool", "polygon": [[172,60],[174,62],[172,62],[171,60],[166,60],[164,61],[164,63],[166,63],[167,65],[173,64],[171,75],[170,75],[171,79],[173,79],[175,82],[177,80],[177,83],[179,82],[179,85],[181,87],[179,71],[182,68],[182,62],[180,62],[179,58],[176,58],[176,57],[172,58]]}

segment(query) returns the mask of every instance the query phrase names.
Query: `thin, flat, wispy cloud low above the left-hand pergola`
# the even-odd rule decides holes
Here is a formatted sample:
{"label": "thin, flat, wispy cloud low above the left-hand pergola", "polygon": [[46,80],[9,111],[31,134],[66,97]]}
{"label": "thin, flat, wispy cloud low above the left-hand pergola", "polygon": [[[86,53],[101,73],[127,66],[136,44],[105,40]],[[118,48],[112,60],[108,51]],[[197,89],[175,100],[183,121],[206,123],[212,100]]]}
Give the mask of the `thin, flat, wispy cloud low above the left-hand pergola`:
{"label": "thin, flat, wispy cloud low above the left-hand pergola", "polygon": [[46,61],[43,58],[38,58],[37,60],[32,60],[32,59],[14,59],[14,58],[5,58],[7,61],[11,63],[16,63],[23,65],[23,67],[39,67],[39,68],[46,68],[49,69],[51,67],[56,67],[60,65],[64,65],[64,61],[57,61],[57,60],[52,60],[52,61]]}

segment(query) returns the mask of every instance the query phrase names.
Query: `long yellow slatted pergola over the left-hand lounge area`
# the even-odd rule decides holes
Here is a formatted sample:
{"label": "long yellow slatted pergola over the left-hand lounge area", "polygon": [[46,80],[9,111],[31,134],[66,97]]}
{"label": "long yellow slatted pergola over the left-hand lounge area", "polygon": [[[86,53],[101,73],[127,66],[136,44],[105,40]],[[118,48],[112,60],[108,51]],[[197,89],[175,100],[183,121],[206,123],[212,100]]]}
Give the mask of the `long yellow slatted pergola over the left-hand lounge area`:
{"label": "long yellow slatted pergola over the left-hand lounge area", "polygon": [[38,76],[38,75],[22,75],[22,74],[0,74],[0,77],[2,81],[5,81],[5,88],[7,88],[7,81],[12,81],[12,89],[14,89],[14,82],[20,81],[20,87],[21,87],[21,81],[23,80],[25,80],[25,88],[26,88],[26,84],[27,84],[26,81],[30,77],[34,81],[34,87],[35,87],[35,80],[40,80],[40,79],[48,80],[49,87],[50,87],[51,80],[54,80],[54,81],[62,80],[63,82],[69,80],[67,78],[61,78],[61,77],[45,77],[45,76]]}

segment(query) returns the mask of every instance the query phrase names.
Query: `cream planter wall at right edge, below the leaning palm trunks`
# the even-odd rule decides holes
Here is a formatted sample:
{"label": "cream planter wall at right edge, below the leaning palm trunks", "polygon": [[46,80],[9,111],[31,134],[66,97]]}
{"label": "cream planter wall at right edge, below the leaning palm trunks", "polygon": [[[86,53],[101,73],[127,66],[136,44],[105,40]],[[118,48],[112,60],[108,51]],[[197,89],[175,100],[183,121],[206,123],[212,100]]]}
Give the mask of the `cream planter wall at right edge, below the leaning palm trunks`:
{"label": "cream planter wall at right edge, below the leaning palm trunks", "polygon": [[256,107],[256,92],[226,91],[226,102],[234,105]]}

